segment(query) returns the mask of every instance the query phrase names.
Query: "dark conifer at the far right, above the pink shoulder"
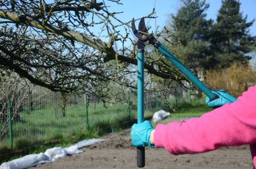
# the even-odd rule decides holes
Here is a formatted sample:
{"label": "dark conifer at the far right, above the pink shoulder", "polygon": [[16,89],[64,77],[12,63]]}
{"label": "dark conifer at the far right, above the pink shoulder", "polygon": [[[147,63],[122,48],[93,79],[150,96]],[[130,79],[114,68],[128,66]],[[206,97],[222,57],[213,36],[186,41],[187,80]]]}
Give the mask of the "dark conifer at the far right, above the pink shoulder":
{"label": "dark conifer at the far right, above the pink shoulder", "polygon": [[255,36],[249,34],[249,28],[254,20],[247,22],[247,15],[243,17],[240,5],[236,0],[222,0],[210,38],[215,67],[229,67],[234,62],[248,64],[251,59],[248,53],[255,46]]}

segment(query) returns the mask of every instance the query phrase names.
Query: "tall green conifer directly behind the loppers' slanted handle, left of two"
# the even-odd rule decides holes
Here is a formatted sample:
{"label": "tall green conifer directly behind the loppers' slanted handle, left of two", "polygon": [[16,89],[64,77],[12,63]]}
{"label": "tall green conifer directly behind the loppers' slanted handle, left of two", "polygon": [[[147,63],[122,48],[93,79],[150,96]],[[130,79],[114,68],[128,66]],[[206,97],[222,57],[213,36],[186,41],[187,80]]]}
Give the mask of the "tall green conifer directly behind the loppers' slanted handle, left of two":
{"label": "tall green conifer directly behind the loppers' slanted handle, left of two", "polygon": [[172,51],[183,57],[190,67],[205,68],[205,59],[210,55],[207,40],[213,22],[206,19],[209,5],[200,0],[182,0],[182,3],[177,15],[171,15],[168,25],[173,29],[172,38],[180,41]]}

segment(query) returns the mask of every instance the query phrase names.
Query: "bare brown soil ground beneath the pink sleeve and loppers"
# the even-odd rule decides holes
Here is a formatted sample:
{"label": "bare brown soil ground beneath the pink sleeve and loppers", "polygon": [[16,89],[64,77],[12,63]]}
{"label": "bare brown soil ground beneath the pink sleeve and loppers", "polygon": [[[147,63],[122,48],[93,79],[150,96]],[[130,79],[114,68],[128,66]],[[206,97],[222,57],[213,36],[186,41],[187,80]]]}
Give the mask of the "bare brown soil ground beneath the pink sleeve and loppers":
{"label": "bare brown soil ground beneath the pink sleeve and loppers", "polygon": [[[180,121],[181,119],[172,119]],[[137,168],[130,129],[106,135],[106,141],[84,147],[84,153],[67,156],[34,168]],[[146,147],[145,168],[253,168],[249,146],[223,147],[205,154],[172,156],[165,149]]]}

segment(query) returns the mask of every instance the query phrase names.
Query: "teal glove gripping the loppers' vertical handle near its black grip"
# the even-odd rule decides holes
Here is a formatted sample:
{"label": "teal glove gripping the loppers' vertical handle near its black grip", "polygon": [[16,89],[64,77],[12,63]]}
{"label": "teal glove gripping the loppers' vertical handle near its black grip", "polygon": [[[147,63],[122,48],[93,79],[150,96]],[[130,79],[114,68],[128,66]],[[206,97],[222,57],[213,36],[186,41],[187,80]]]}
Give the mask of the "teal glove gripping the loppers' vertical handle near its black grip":
{"label": "teal glove gripping the loppers' vertical handle near its black grip", "polygon": [[134,124],[131,127],[131,144],[134,147],[156,147],[150,144],[150,133],[154,129],[149,121],[143,123]]}

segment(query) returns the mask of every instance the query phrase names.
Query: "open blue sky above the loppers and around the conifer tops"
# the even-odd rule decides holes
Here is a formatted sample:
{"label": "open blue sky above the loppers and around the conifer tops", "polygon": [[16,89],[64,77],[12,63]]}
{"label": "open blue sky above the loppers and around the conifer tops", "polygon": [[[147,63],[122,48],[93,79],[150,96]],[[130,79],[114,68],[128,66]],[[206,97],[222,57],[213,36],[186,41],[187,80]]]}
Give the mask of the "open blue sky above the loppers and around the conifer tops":
{"label": "open blue sky above the loppers and around the conifer tops", "polygon": [[[206,0],[206,2],[210,3],[210,8],[206,11],[207,18],[216,20],[218,9],[220,9],[222,5],[221,0]],[[248,15],[247,22],[256,18],[256,0],[241,0],[240,2],[243,15]],[[122,14],[119,14],[119,18],[123,21],[129,21],[131,18],[141,18],[148,15],[155,6],[158,18],[150,22],[153,28],[155,28],[156,24],[162,28],[166,24],[166,20],[168,20],[170,14],[177,13],[179,7],[181,7],[179,0],[124,0],[122,3],[123,5],[112,4],[109,9],[110,11],[123,11]],[[256,36],[256,22],[251,27],[250,32]]]}

